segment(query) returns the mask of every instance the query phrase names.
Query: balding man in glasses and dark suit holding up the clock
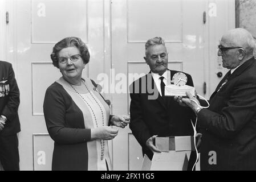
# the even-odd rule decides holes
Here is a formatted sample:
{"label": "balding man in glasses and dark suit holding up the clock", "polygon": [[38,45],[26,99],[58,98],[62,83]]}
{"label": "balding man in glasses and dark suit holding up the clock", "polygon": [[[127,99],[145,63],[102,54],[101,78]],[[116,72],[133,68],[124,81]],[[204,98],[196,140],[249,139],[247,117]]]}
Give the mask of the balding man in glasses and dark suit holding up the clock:
{"label": "balding man in glasses and dark suit holding up the clock", "polygon": [[178,99],[197,113],[202,170],[256,170],[254,48],[254,39],[245,29],[228,31],[221,38],[218,56],[230,71],[210,97],[210,107],[202,109],[189,93],[189,98]]}

